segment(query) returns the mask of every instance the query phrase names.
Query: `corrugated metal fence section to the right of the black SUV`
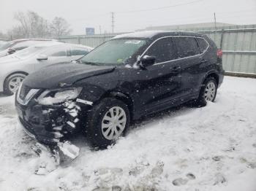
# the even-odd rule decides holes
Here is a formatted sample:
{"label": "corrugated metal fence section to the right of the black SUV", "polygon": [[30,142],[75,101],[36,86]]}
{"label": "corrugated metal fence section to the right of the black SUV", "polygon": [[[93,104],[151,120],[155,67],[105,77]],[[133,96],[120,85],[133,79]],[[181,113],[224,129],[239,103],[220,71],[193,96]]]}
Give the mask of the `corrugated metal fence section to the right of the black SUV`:
{"label": "corrugated metal fence section to the right of the black SUV", "polygon": [[256,27],[201,32],[222,49],[225,71],[256,74]]}

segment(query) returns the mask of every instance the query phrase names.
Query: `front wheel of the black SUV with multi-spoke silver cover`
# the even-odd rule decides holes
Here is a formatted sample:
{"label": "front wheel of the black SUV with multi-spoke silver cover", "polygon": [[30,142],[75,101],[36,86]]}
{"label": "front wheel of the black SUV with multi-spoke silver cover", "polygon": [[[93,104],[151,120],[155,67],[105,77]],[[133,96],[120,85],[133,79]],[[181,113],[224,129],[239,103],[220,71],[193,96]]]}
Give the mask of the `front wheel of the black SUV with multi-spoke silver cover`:
{"label": "front wheel of the black SUV with multi-spoke silver cover", "polygon": [[87,115],[86,135],[93,147],[105,149],[129,127],[127,104],[116,98],[104,98]]}

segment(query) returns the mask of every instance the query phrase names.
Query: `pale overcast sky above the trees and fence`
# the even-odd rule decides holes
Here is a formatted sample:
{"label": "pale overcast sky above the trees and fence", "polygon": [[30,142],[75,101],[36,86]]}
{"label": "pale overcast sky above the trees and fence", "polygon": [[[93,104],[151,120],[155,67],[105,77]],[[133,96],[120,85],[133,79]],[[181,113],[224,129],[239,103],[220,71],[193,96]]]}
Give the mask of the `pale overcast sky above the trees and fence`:
{"label": "pale overcast sky above the trees and fence", "polygon": [[[31,10],[45,19],[64,17],[72,34],[85,34],[86,27],[99,33],[111,31],[115,12],[115,32],[135,31],[147,26],[164,26],[214,21],[256,24],[256,0],[0,0],[0,31],[15,26],[15,12]],[[163,8],[167,7],[167,8]],[[151,10],[147,10],[151,9]],[[147,11],[145,11],[147,10]]]}

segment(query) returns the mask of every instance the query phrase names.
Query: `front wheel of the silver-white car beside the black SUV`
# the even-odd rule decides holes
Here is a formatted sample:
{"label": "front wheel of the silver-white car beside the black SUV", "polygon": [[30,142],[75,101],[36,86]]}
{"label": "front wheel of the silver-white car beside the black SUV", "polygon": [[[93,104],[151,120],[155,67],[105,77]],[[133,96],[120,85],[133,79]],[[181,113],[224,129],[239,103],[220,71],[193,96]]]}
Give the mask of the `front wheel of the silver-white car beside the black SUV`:
{"label": "front wheel of the silver-white car beside the black SUV", "polygon": [[4,94],[13,95],[25,77],[25,74],[12,74],[10,77],[7,77],[4,82]]}

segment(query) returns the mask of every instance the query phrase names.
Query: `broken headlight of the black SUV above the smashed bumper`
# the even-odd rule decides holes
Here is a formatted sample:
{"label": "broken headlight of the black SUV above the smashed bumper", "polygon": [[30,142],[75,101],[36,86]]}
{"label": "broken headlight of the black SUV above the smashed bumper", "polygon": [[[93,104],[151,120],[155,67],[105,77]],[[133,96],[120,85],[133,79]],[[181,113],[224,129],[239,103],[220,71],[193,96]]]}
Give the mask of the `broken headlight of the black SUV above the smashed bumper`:
{"label": "broken headlight of the black SUV above the smashed bumper", "polygon": [[67,89],[57,89],[57,90],[45,90],[37,101],[42,105],[53,105],[60,104],[64,101],[73,100],[78,97],[82,90],[82,87],[72,87]]}

